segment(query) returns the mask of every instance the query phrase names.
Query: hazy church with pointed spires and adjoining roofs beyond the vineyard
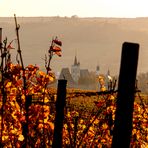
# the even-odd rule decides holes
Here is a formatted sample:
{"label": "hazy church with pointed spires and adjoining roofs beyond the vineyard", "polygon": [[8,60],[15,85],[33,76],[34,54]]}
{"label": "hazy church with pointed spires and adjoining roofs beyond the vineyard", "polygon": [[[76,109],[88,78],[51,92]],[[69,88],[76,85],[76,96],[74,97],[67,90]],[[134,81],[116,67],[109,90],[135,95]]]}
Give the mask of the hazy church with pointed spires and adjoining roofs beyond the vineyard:
{"label": "hazy church with pointed spires and adjoining roofs beyond the vineyard", "polygon": [[110,83],[110,71],[106,74],[100,73],[100,67],[97,65],[95,72],[89,72],[88,69],[81,69],[80,62],[74,57],[71,69],[62,68],[59,79],[67,80],[67,87],[80,89],[93,89],[100,91],[98,77],[103,76],[105,80],[104,86],[108,89]]}

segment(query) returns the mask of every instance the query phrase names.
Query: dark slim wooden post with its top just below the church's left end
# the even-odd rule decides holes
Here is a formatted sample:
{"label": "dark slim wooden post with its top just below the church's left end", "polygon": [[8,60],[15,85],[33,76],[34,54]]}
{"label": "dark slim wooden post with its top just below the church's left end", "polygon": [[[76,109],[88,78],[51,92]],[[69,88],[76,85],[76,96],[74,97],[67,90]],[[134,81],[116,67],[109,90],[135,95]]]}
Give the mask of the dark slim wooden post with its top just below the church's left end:
{"label": "dark slim wooden post with its top just below the church's left end", "polygon": [[67,80],[58,81],[56,116],[55,116],[55,123],[54,123],[55,127],[54,127],[52,148],[62,148],[64,107],[66,104],[66,84],[67,84]]}

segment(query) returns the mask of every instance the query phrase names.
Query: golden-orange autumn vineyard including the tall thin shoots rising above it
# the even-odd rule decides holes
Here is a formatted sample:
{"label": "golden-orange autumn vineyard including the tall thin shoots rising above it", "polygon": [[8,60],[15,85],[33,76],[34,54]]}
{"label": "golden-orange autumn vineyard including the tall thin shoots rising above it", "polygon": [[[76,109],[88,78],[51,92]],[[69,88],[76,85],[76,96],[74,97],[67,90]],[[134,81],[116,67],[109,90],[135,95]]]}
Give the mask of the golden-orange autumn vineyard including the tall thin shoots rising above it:
{"label": "golden-orange autumn vineyard including the tall thin shoots rising above it", "polygon": [[[119,93],[115,90],[116,80],[110,79],[108,87],[105,87],[104,77],[98,76],[100,92],[68,88],[64,92],[65,86],[60,92],[60,88],[52,88],[50,84],[55,82],[55,75],[50,62],[54,55],[61,56],[62,42],[57,37],[52,39],[45,57],[46,73],[37,65],[25,67],[16,18],[15,23],[17,64],[11,61],[11,42],[7,45],[6,39],[1,43],[0,146],[50,148],[61,140],[62,147],[68,148],[110,148]],[[59,80],[62,81],[66,80]],[[65,96],[62,97],[63,93]],[[64,99],[65,102],[62,101]],[[141,95],[137,86],[134,88],[134,100],[130,147],[148,148],[147,96]],[[59,116],[62,120],[58,120],[61,106],[63,119]],[[62,130],[56,125],[60,125]],[[61,139],[56,139],[56,130],[60,131]]]}

